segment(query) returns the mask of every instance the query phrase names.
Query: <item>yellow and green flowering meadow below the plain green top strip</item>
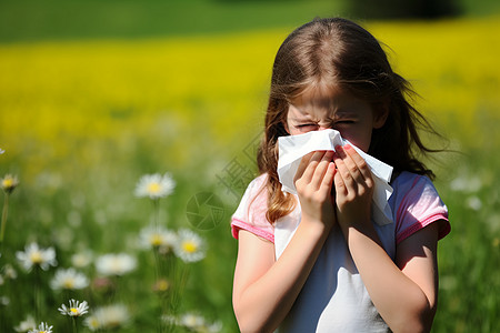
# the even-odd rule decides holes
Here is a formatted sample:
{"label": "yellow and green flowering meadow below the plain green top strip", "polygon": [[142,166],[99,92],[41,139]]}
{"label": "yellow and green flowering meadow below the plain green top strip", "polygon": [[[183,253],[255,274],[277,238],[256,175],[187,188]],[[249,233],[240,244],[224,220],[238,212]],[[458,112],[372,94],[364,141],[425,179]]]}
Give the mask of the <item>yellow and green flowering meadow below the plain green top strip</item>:
{"label": "yellow and green flowering meadow below the plain green top strip", "polygon": [[[432,332],[500,330],[499,22],[364,23],[448,138],[427,138],[450,149],[428,163],[452,224]],[[2,198],[1,332],[27,332],[29,315],[69,332],[58,307],[70,299],[89,303],[80,332],[238,331],[229,220],[257,172],[271,63],[289,31],[0,44],[0,178],[19,180]],[[168,173],[172,192],[138,194],[156,173]],[[200,258],[178,255],[166,229],[194,232],[183,250]],[[32,242],[53,249],[54,258],[38,252],[47,270],[33,258],[24,269],[19,252]],[[109,272],[99,263],[111,254]],[[58,286],[70,268],[79,278]],[[116,322],[83,324],[114,305]]]}

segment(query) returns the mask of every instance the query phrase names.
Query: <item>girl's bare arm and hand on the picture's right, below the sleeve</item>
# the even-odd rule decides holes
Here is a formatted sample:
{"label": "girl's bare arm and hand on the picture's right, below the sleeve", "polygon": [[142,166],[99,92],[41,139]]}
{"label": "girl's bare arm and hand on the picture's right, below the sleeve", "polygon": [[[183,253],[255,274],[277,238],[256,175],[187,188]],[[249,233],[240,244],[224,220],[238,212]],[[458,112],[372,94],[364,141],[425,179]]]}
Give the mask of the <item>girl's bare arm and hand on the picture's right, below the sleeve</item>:
{"label": "girl's bare arm and hand on the picture's right, below the sleeve", "polygon": [[416,232],[397,248],[397,264],[380,244],[370,222],[373,181],[362,158],[339,149],[337,220],[370,297],[393,332],[428,332],[438,294],[438,223]]}

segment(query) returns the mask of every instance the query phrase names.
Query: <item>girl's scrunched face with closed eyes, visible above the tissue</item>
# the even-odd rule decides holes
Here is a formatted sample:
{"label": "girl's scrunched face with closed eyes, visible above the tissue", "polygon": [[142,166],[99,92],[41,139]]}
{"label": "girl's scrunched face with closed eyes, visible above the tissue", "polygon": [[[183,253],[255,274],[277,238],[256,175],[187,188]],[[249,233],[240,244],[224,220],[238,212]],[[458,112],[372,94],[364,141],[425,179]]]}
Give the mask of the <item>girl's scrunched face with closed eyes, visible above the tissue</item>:
{"label": "girl's scrunched face with closed eyes, visible above the tissue", "polygon": [[386,118],[387,112],[377,115],[368,102],[346,90],[319,87],[292,100],[284,128],[290,135],[333,129],[367,152],[372,130],[381,128]]}

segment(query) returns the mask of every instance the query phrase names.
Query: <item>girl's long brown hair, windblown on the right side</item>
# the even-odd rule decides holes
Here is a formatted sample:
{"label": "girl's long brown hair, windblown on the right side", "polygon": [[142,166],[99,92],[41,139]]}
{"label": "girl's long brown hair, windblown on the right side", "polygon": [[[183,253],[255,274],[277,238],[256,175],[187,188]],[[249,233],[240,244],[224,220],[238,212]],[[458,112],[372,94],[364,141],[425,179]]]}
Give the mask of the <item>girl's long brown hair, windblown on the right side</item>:
{"label": "girl's long brown hair, windblown on the right side", "polygon": [[411,171],[433,178],[417,159],[418,153],[433,151],[422,143],[417,128],[436,131],[407,101],[413,91],[392,71],[380,43],[352,21],[314,19],[288,36],[272,68],[264,137],[257,155],[259,172],[268,173],[267,218],[271,223],[289,214],[296,204],[292,195],[281,191],[277,173],[277,141],[288,135],[283,124],[289,103],[320,82],[347,89],[370,102],[374,112],[389,112],[384,125],[372,132],[369,154],[392,165],[396,174]]}

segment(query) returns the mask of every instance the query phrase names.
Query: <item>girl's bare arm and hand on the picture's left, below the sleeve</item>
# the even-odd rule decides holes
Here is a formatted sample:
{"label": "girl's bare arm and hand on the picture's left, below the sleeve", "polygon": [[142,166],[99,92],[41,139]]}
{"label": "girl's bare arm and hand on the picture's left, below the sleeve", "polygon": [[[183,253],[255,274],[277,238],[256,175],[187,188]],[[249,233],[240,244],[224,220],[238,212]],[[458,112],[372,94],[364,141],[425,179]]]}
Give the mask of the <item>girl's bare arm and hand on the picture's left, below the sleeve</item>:
{"label": "girl's bare arm and hand on the picture's left, below the sleeve", "polygon": [[302,220],[274,260],[274,245],[239,233],[233,307],[242,332],[272,332],[290,311],[334,222],[331,152],[306,155],[296,175]]}

